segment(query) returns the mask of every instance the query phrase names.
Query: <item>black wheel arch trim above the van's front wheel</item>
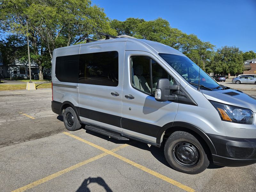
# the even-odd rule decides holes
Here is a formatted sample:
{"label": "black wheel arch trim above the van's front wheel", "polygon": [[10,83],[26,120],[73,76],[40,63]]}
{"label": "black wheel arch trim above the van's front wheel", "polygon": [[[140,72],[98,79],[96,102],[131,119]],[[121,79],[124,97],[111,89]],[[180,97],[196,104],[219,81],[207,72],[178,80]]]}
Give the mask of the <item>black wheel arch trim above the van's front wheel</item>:
{"label": "black wheel arch trim above the van's front wheel", "polygon": [[186,122],[175,121],[172,123],[165,124],[157,133],[156,143],[161,145],[164,134],[170,135],[175,131],[186,131],[186,132],[189,132],[190,134],[193,134],[199,140],[202,140],[206,144],[206,146],[209,148],[209,150],[211,151],[212,154],[217,155],[216,148],[214,147],[212,141],[206,135],[206,133],[203,132],[198,127],[196,127],[195,125],[189,124]]}

